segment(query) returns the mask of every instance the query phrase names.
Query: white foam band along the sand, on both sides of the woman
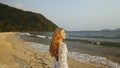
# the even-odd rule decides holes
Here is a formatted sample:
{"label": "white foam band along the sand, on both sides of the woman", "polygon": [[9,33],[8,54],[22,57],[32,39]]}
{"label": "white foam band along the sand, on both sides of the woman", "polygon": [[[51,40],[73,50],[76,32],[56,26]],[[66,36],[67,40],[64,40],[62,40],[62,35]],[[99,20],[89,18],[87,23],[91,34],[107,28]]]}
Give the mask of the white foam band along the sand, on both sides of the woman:
{"label": "white foam band along the sand, on both sides of the woman", "polygon": [[[35,42],[26,42],[26,43],[38,50],[48,51],[49,49],[49,45],[44,45],[44,44],[35,43]],[[75,58],[80,62],[94,63],[98,65],[107,65],[110,68],[120,68],[120,64],[113,62],[112,60],[107,59],[106,57],[92,56],[89,54],[84,54],[79,52],[69,52],[68,56]]]}

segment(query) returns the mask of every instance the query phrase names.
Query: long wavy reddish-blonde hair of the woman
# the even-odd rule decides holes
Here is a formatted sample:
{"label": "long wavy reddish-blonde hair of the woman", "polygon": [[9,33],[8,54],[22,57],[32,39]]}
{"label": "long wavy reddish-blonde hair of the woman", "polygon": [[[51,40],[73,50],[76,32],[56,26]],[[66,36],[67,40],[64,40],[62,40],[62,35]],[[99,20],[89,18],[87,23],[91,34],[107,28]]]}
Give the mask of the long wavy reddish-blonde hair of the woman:
{"label": "long wavy reddish-blonde hair of the woman", "polygon": [[58,54],[58,47],[60,44],[59,41],[61,40],[61,31],[62,30],[64,30],[64,29],[59,27],[53,33],[51,43],[50,43],[50,48],[49,48],[49,52],[50,52],[52,57],[56,56]]}

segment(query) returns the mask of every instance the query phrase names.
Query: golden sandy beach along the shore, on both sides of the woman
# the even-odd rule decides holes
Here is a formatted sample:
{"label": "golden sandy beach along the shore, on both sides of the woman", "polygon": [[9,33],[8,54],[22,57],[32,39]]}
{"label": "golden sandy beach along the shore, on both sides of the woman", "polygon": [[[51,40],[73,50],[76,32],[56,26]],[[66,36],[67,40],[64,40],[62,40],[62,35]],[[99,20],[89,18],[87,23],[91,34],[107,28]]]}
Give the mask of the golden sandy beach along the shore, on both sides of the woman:
{"label": "golden sandy beach along the shore, on both sides of the woman", "polygon": [[[15,37],[15,32],[0,33],[0,68],[52,68],[48,52],[35,50],[25,41]],[[69,68],[108,68],[79,62],[68,57]]]}

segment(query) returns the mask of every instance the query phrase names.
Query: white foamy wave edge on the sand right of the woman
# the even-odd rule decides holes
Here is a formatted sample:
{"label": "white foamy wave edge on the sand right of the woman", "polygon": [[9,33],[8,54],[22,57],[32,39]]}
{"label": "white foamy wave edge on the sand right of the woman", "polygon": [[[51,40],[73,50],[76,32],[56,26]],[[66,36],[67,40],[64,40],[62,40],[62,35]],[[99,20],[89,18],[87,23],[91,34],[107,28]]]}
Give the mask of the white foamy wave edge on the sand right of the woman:
{"label": "white foamy wave edge on the sand right of the woman", "polygon": [[83,53],[78,53],[78,52],[69,52],[68,55],[70,57],[75,58],[78,61],[95,63],[98,65],[106,65],[106,66],[109,66],[111,68],[120,68],[119,63],[113,62],[112,60],[107,59],[106,57],[92,56],[89,54],[83,54]]}

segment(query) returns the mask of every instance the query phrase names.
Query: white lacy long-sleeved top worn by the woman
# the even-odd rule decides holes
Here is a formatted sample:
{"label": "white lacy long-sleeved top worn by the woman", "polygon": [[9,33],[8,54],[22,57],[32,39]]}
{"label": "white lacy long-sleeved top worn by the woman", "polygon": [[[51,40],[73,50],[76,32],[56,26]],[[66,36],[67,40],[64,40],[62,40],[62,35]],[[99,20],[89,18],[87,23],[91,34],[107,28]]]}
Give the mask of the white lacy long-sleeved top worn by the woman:
{"label": "white lacy long-sleeved top worn by the woman", "polygon": [[68,68],[67,53],[67,45],[61,42],[58,51],[58,62],[55,57],[53,57],[53,68]]}

